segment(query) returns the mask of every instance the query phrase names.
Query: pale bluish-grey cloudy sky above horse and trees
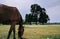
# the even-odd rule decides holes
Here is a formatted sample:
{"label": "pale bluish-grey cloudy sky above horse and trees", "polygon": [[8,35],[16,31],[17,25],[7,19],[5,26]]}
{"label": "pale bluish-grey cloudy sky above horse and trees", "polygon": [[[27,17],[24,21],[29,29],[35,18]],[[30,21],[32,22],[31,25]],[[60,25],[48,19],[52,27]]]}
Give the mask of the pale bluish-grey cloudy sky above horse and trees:
{"label": "pale bluish-grey cloudy sky above horse and trees", "polygon": [[25,15],[31,13],[30,6],[38,4],[46,9],[49,15],[49,22],[60,22],[60,0],[0,0],[0,4],[17,7],[23,19]]}

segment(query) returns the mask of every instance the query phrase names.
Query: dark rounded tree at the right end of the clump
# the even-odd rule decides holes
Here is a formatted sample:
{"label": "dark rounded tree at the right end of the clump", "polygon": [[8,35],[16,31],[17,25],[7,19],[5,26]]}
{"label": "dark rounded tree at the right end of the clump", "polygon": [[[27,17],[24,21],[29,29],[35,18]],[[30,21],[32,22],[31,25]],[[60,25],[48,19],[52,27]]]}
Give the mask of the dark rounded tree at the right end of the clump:
{"label": "dark rounded tree at the right end of the clump", "polygon": [[42,8],[42,12],[40,13],[40,17],[39,17],[39,22],[44,24],[47,23],[48,20],[49,20],[49,16],[46,14],[46,9]]}

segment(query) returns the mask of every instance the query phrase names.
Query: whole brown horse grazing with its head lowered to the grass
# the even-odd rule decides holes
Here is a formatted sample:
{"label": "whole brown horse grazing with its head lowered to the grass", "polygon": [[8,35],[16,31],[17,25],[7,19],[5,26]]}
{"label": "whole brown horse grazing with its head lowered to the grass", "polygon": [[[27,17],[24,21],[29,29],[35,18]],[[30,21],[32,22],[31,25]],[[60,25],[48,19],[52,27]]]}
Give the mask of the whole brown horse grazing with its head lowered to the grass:
{"label": "whole brown horse grazing with its head lowered to the grass", "polygon": [[18,38],[22,39],[22,35],[24,32],[23,20],[22,20],[21,14],[19,13],[16,7],[0,4],[0,22],[8,22],[11,24],[7,39],[9,39],[12,31],[13,31],[13,39],[16,39],[15,38],[15,25],[18,23],[19,24]]}

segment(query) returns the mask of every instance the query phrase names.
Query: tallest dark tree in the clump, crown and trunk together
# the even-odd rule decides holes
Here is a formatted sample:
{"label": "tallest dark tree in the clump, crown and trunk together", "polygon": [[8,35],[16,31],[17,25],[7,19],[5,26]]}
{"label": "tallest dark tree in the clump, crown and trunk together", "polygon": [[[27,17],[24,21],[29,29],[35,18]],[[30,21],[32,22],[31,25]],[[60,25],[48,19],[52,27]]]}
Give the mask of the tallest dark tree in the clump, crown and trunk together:
{"label": "tallest dark tree in the clump, crown and trunk together", "polygon": [[35,20],[36,24],[37,24],[37,19],[38,19],[38,12],[41,12],[41,11],[42,11],[42,9],[38,4],[31,5],[31,12],[34,15],[34,18],[35,18],[34,20]]}

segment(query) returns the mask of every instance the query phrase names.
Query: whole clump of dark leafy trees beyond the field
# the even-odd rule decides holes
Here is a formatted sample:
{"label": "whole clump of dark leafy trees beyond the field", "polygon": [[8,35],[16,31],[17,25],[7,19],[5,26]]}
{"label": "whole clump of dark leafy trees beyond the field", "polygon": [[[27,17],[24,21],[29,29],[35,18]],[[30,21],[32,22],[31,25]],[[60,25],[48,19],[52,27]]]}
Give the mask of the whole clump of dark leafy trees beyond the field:
{"label": "whole clump of dark leafy trees beyond the field", "polygon": [[34,22],[37,24],[39,22],[44,24],[50,20],[49,16],[46,14],[46,9],[38,4],[32,4],[30,11],[31,13],[25,15],[25,23],[32,24],[32,22]]}

